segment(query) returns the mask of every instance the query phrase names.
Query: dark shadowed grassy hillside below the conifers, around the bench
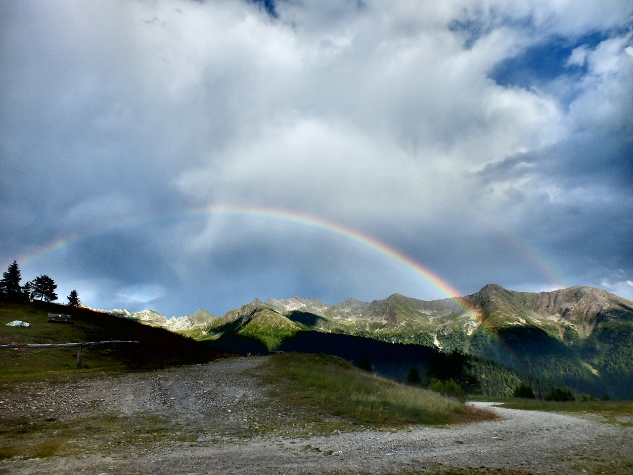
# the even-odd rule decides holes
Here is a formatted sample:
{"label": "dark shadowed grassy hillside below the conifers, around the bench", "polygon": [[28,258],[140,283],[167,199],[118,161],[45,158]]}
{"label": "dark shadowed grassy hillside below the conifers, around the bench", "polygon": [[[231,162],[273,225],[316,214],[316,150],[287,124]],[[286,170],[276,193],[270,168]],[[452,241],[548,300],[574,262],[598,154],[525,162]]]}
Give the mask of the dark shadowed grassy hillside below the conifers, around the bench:
{"label": "dark shadowed grassy hillside below the conifers, around the bench", "polygon": [[[72,315],[72,324],[49,323],[48,314]],[[28,327],[8,327],[13,320]],[[80,343],[133,340],[84,348],[81,371],[147,369],[194,364],[225,353],[165,329],[142,325],[114,315],[55,303],[0,301],[0,344]],[[47,374],[76,372],[77,348],[1,348],[0,381],[17,381]]]}

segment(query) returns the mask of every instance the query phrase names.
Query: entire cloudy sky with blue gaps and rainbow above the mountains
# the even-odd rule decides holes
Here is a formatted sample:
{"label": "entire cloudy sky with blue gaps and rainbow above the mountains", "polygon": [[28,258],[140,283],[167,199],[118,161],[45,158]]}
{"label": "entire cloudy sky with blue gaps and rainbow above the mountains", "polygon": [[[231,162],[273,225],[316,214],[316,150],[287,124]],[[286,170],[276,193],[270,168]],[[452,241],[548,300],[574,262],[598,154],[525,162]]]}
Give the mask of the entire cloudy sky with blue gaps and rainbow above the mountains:
{"label": "entire cloudy sky with blue gaps and rainbow above the mountains", "polygon": [[223,315],[633,299],[630,0],[4,0],[0,265]]}

